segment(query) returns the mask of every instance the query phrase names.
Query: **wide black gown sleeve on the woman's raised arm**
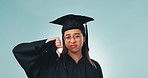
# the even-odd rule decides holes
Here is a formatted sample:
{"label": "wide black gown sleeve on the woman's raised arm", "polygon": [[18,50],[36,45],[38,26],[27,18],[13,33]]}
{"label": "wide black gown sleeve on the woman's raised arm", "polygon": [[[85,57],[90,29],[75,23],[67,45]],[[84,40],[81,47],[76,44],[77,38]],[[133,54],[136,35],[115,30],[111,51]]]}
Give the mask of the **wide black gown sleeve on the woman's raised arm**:
{"label": "wide black gown sleeve on the woman's raised arm", "polygon": [[13,53],[25,70],[28,77],[37,73],[42,68],[52,67],[58,58],[56,54],[55,40],[35,41],[22,43],[13,49]]}

